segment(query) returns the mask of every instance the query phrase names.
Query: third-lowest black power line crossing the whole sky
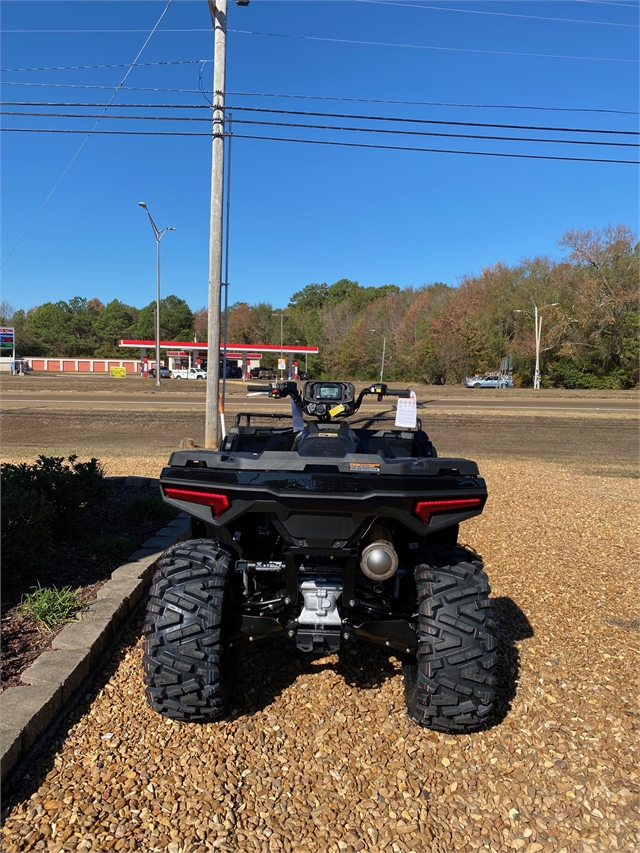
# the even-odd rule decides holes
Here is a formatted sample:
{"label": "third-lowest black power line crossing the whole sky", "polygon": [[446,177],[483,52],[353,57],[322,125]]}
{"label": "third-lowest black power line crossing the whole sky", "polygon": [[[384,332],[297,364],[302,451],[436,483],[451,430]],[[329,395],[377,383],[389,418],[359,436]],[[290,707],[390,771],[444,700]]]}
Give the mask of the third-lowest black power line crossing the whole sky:
{"label": "third-lowest black power line crossing the whole sky", "polygon": [[[95,104],[95,103],[69,103],[69,102],[60,102],[60,101],[0,101],[0,105],[2,106],[38,106],[38,107],[74,107],[76,109],[82,108],[96,108],[99,109],[103,106],[103,104]],[[211,109],[210,106],[206,104],[114,104],[114,107],[118,109],[195,109],[195,110],[207,110]],[[584,127],[554,127],[547,125],[527,125],[527,124],[497,124],[491,122],[473,122],[473,121],[445,121],[439,119],[422,119],[422,118],[406,118],[406,117],[398,117],[398,116],[370,116],[370,115],[357,115],[352,113],[327,113],[327,112],[312,112],[310,110],[278,110],[271,109],[265,107],[240,107],[240,106],[230,106],[227,104],[227,109],[230,110],[238,110],[240,112],[253,112],[253,113],[267,113],[267,114],[275,114],[275,115],[293,115],[293,116],[305,116],[309,118],[339,118],[339,119],[351,119],[353,121],[391,121],[391,122],[400,122],[400,123],[408,123],[408,124],[428,124],[428,125],[451,125],[453,127],[485,127],[485,128],[498,128],[499,130],[540,130],[540,131],[552,131],[556,133],[605,133],[605,134],[613,134],[616,136],[637,136],[638,132],[635,130],[612,130],[610,128],[601,129],[601,128],[584,128]],[[25,115],[30,115],[33,113],[26,113]],[[51,113],[42,113],[42,115],[55,115]],[[87,118],[87,116],[67,116],[68,118]],[[186,119],[185,119],[186,120]]]}

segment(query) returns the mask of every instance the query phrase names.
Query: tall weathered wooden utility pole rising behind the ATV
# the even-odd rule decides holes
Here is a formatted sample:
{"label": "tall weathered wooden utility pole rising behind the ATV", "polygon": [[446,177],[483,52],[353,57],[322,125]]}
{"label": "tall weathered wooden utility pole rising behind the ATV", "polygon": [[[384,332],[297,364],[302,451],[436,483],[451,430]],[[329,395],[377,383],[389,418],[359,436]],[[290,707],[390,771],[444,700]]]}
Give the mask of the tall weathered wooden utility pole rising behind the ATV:
{"label": "tall weathered wooden utility pole rising behind the ATV", "polygon": [[227,60],[227,0],[208,0],[214,30],[213,139],[211,149],[211,224],[207,318],[207,392],[204,446],[218,444],[220,384],[220,292],[222,287],[222,194],[224,187],[224,96]]}

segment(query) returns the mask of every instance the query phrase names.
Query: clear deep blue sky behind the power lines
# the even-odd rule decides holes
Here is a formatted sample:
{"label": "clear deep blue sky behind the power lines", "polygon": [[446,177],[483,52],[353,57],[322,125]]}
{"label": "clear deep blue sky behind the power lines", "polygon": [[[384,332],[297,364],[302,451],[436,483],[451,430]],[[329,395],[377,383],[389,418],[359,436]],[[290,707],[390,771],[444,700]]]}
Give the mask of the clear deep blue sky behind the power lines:
{"label": "clear deep blue sky behind the power lines", "polygon": [[[166,0],[5,0],[3,69],[123,67],[5,70],[5,84],[45,85],[5,85],[3,100],[107,103],[165,6]],[[487,12],[493,14],[484,14]],[[634,131],[638,124],[638,4],[633,0],[252,0],[247,8],[230,3],[229,28],[228,93],[494,105],[427,106],[228,94],[237,134],[637,159],[634,148],[538,141],[628,143],[637,141],[633,136],[234,112],[234,107],[243,106],[437,122]],[[201,65],[197,60],[211,60],[212,50],[205,0],[173,0],[139,64],[127,77],[125,86],[136,88],[120,91],[107,116],[188,114],[208,119],[206,109],[159,107],[206,107],[204,96],[197,93],[198,78],[202,69],[203,86],[210,91],[212,64]],[[178,62],[182,64],[175,64]],[[88,86],[107,88],[80,88]],[[145,88],[183,91],[141,91]],[[154,107],[116,109],[117,104]],[[507,109],[506,105],[546,109]],[[635,114],[569,112],[552,107]],[[87,116],[5,116],[5,128],[83,131],[95,123],[88,116],[101,112],[76,106],[4,109]],[[511,135],[537,141],[387,136],[237,123],[252,117]],[[99,130],[200,133],[209,128],[208,121],[108,118],[98,125]],[[24,309],[73,296],[95,296],[104,303],[120,299],[137,307],[151,302],[155,298],[155,241],[138,207],[139,201],[145,201],[160,228],[172,225],[176,229],[162,241],[163,294],[181,296],[192,309],[205,305],[211,168],[211,145],[206,136],[92,136],[16,247],[85,138],[71,133],[2,134],[2,298],[14,308]],[[232,164],[231,302],[269,301],[281,307],[294,291],[311,282],[332,283],[343,277],[364,286],[394,283],[407,287],[434,281],[456,285],[463,276],[497,261],[511,264],[535,255],[558,256],[557,241],[567,229],[620,222],[637,228],[635,166],[239,137],[234,138]]]}

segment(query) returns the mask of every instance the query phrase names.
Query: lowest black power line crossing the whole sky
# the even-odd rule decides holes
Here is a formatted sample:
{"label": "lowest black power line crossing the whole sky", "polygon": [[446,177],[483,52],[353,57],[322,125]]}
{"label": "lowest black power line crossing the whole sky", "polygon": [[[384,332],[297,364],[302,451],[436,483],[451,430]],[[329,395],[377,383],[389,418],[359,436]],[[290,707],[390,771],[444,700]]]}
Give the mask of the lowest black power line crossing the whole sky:
{"label": "lowest black power line crossing the whole sky", "polygon": [[[235,119],[234,119],[235,121]],[[87,133],[86,130],[71,130],[62,128],[23,128],[23,127],[0,127],[0,133]],[[158,136],[158,137],[207,137],[211,133],[198,131],[160,131],[160,130],[96,130],[92,134],[102,136]],[[248,134],[234,133],[235,139],[257,139],[263,142],[297,142],[305,145],[334,145],[342,148],[370,148],[382,151],[420,151],[431,154],[463,154],[478,157],[508,157],[518,160],[561,160],[574,163],[617,163],[626,166],[637,166],[636,160],[613,160],[600,157],[561,157],[552,154],[514,154],[498,151],[456,151],[447,148],[414,148],[405,145],[373,145],[364,142],[339,142],[324,139],[292,139],[291,137],[278,136],[251,136]]]}

